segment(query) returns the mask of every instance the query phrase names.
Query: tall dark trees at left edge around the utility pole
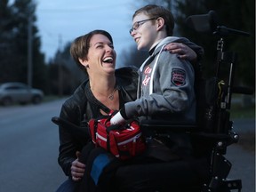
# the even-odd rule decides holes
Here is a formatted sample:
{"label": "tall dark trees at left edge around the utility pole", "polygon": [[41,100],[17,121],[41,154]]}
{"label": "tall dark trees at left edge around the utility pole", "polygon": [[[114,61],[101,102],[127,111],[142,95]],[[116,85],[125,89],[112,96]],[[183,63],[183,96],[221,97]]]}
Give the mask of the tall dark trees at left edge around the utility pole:
{"label": "tall dark trees at left edge around the utility pole", "polygon": [[4,70],[0,71],[0,82],[28,82],[28,18],[30,17],[32,20],[33,86],[44,90],[47,74],[44,54],[40,52],[41,40],[37,35],[38,29],[35,24],[36,4],[33,0],[16,0],[9,5],[7,0],[0,0],[0,5],[0,61],[4,65]]}

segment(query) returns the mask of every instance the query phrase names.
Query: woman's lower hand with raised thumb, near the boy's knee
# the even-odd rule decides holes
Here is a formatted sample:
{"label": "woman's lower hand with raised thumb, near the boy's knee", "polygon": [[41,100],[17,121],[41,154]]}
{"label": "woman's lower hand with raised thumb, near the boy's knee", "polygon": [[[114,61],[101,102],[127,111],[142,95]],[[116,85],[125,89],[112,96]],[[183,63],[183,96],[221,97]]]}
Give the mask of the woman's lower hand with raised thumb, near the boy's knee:
{"label": "woman's lower hand with raised thumb, near the boy's knee", "polygon": [[76,160],[72,162],[71,164],[71,175],[72,175],[72,180],[78,181],[81,180],[82,177],[84,176],[84,170],[85,170],[85,164],[82,164],[79,162],[79,156],[80,152],[76,152]]}

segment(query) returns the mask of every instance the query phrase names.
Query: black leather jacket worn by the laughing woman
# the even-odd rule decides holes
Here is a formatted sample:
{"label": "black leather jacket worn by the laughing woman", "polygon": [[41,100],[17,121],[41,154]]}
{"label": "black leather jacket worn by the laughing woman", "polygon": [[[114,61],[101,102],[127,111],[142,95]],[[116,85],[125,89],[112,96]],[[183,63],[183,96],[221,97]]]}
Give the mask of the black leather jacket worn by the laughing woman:
{"label": "black leather jacket worn by the laughing woman", "polygon": [[[116,69],[116,88],[119,92],[120,108],[124,107],[125,102],[136,99],[137,86],[137,68]],[[81,151],[90,141],[90,137],[86,135],[86,132],[88,132],[87,123],[91,118],[102,116],[100,108],[105,111],[108,110],[92,95],[88,79],[62,105],[60,118],[76,124],[84,130],[84,132],[81,132],[75,127],[67,127],[61,124],[59,126],[60,153],[58,162],[67,176],[71,175],[71,163],[76,160],[76,151]]]}

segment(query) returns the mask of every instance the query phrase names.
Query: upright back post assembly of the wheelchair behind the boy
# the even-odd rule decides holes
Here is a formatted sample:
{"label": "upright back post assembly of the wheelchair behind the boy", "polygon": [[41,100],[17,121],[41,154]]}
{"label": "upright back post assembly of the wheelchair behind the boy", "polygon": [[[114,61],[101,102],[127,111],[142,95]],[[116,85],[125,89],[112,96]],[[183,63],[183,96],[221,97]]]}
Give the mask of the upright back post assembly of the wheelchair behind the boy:
{"label": "upright back post assembly of the wheelchair behind the boy", "polygon": [[[196,17],[198,18],[198,16]],[[250,36],[250,34],[244,31],[227,28],[225,26],[217,26],[216,28],[214,28],[217,24],[217,16],[214,11],[208,12],[208,14],[203,15],[203,17],[206,17],[206,20],[209,21],[208,25],[213,29],[213,35],[220,36],[220,40],[217,44],[217,79],[220,78],[220,71],[222,65],[228,65],[229,67],[227,79],[228,82],[226,83],[224,80],[222,80],[224,84],[221,84],[219,86],[219,98],[217,100],[217,106],[215,109],[215,120],[217,122],[215,124],[215,130],[212,130],[213,137],[216,138],[215,147],[212,148],[212,180],[209,184],[204,184],[203,191],[229,192],[232,189],[237,189],[238,191],[241,191],[242,180],[227,179],[232,164],[223,155],[226,154],[228,146],[236,143],[239,139],[238,134],[233,131],[233,122],[229,119],[229,109],[231,106],[232,93],[236,92],[252,94],[252,90],[245,87],[234,87],[234,75],[237,57],[236,52],[224,52],[224,37],[228,35]],[[193,20],[193,16],[190,16],[188,20]],[[194,16],[194,24],[196,24],[195,22],[196,20]]]}

